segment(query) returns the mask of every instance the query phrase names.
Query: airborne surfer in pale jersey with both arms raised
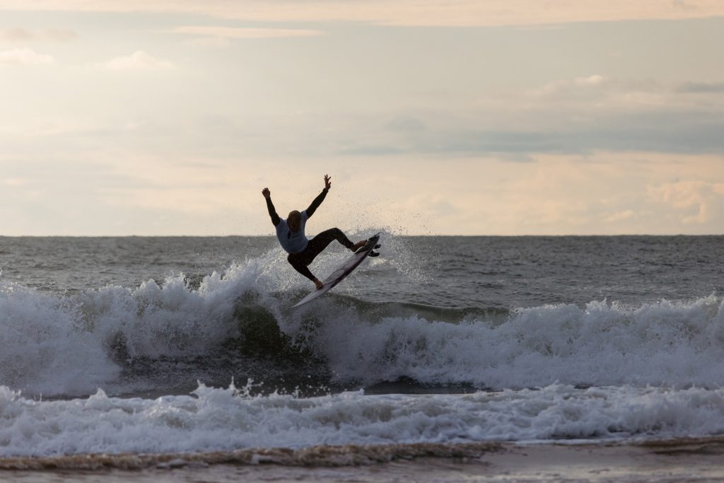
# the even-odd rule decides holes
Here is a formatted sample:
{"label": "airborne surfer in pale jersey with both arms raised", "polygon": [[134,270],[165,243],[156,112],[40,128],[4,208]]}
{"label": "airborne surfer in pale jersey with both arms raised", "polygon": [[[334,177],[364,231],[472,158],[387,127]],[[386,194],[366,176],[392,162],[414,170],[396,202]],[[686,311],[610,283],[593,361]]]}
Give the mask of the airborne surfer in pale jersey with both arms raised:
{"label": "airborne surfer in pale jersey with both arms raised", "polygon": [[282,248],[284,248],[287,253],[289,253],[287,261],[297,272],[303,274],[309,280],[314,282],[317,289],[323,287],[324,284],[309,271],[308,266],[312,263],[316,256],[319,255],[319,253],[324,251],[324,248],[327,248],[329,243],[332,243],[332,240],[337,240],[351,251],[357,251],[359,248],[362,248],[367,241],[361,240],[357,243],[352,243],[350,239],[347,238],[347,235],[345,235],[339,228],[330,228],[329,230],[319,233],[311,240],[304,235],[304,225],[314,214],[314,211],[319,208],[321,202],[324,201],[327,193],[329,193],[329,188],[332,188],[332,182],[330,182],[331,179],[331,177],[324,175],[324,190],[321,190],[321,193],[314,198],[311,205],[309,205],[306,210],[302,212],[296,210],[290,211],[287,215],[287,219],[279,218],[277,210],[274,209],[274,203],[271,203],[271,191],[269,191],[269,188],[261,190],[261,194],[264,198],[266,198],[266,208],[269,209],[271,222],[274,223],[275,227],[277,227],[277,238],[279,239],[279,244],[282,245]]}

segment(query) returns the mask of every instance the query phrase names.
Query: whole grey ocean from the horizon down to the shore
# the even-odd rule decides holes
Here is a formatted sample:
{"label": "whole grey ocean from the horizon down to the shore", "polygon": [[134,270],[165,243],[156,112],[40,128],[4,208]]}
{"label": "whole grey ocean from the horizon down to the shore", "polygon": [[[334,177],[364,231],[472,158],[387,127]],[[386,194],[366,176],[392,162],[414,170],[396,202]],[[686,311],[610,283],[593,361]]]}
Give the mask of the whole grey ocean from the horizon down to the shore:
{"label": "whole grey ocean from the horizon down to the shore", "polygon": [[723,236],[383,232],[379,251],[292,309],[313,284],[271,237],[0,238],[0,479],[471,481],[521,448],[724,454]]}

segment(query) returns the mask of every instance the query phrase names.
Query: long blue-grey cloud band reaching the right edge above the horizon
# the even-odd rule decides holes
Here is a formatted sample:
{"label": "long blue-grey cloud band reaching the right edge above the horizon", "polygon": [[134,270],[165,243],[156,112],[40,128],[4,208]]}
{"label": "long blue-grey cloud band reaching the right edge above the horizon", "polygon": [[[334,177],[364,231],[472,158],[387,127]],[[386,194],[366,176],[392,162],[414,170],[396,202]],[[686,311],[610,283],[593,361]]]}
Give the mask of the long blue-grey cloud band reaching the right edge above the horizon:
{"label": "long blue-grey cloud band reaching the right edge above the horizon", "polygon": [[[561,119],[554,111],[539,112],[531,127],[494,127],[484,116],[445,116],[447,125],[429,125],[424,133],[404,130],[370,131],[360,125],[354,143],[344,141],[334,152],[345,155],[495,156],[502,161],[530,161],[534,154],[582,154],[594,151],[678,154],[724,154],[724,119],[701,112],[611,112],[583,122]],[[369,125],[369,123],[367,123]],[[479,127],[471,127],[479,125]],[[303,130],[303,127],[300,127]],[[301,135],[301,133],[300,133]],[[315,134],[305,131],[301,151]],[[313,143],[314,146],[320,146]],[[319,154],[324,154],[321,152]]]}

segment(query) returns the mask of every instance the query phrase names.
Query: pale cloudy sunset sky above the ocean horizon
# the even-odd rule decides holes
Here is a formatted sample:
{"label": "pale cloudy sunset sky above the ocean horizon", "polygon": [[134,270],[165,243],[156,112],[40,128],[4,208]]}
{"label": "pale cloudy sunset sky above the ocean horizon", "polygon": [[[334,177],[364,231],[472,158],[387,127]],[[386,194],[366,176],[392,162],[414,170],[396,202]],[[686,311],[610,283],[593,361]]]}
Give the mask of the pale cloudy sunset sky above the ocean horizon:
{"label": "pale cloudy sunset sky above the ocean horizon", "polygon": [[721,0],[0,0],[0,235],[724,232]]}

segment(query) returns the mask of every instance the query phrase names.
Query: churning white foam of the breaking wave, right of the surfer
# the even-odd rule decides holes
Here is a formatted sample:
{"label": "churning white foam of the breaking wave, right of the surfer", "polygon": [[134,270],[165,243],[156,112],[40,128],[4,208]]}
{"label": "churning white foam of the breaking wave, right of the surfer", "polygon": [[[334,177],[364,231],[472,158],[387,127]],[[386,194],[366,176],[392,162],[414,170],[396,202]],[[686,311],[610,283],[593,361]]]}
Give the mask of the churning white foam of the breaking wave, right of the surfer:
{"label": "churning white foam of the breaking wave, right of the surfer", "polygon": [[324,303],[329,323],[316,328],[316,347],[338,381],[724,385],[724,306],[715,296],[634,308],[541,306],[513,311],[502,323],[460,324],[417,316],[370,321]]}

